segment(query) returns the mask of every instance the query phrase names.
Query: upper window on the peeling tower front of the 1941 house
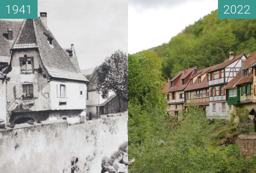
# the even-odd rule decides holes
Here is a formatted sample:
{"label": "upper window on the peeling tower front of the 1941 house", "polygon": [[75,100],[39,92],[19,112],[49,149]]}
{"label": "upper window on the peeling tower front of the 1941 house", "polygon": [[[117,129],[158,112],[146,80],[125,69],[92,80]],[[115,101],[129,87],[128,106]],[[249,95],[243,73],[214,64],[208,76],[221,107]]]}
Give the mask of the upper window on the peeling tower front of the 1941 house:
{"label": "upper window on the peeling tower front of the 1941 house", "polygon": [[33,57],[20,57],[20,73],[21,74],[34,73]]}

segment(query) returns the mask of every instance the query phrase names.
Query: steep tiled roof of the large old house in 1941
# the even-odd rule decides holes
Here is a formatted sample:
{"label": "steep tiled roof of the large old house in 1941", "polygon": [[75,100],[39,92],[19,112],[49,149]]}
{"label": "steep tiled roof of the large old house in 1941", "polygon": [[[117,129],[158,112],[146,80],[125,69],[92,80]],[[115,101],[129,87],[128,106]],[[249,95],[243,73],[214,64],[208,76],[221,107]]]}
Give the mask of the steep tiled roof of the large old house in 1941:
{"label": "steep tiled roof of the large old house in 1941", "polygon": [[[52,45],[48,42],[49,38],[53,39]],[[39,18],[24,20],[13,48],[29,47],[38,47],[43,65],[53,78],[88,82]]]}

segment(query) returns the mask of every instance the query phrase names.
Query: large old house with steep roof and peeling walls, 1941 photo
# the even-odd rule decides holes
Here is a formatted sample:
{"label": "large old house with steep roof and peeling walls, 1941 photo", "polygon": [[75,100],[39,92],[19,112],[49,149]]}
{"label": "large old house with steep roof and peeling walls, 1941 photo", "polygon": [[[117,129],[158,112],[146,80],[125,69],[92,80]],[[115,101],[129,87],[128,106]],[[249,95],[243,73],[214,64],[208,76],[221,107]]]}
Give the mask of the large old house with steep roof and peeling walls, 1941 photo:
{"label": "large old house with steep roof and peeling walls, 1941 photo", "polygon": [[18,34],[10,35],[8,122],[78,116],[86,108],[88,80],[74,60],[73,45],[62,49],[48,29],[47,14],[24,20]]}

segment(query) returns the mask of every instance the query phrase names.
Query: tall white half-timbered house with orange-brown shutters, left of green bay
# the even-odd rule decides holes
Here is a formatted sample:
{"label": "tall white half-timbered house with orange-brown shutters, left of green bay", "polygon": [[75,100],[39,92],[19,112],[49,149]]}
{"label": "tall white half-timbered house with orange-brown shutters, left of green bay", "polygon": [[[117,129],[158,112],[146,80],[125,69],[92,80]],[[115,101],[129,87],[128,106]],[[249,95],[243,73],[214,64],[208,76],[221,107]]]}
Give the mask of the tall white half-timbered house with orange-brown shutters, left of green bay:
{"label": "tall white half-timbered house with orange-brown shutters, left of green bay", "polygon": [[238,74],[242,61],[247,57],[244,54],[234,56],[230,52],[229,58],[220,64],[216,64],[207,72],[209,81],[209,106],[206,106],[206,117],[214,119],[229,119],[228,102],[224,87]]}

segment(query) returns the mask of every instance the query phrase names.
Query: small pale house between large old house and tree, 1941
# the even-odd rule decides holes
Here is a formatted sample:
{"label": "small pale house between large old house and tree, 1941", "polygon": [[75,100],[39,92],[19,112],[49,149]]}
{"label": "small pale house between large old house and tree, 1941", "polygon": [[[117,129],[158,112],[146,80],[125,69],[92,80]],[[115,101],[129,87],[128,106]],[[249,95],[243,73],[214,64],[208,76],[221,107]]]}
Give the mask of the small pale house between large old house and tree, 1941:
{"label": "small pale house between large old house and tree, 1941", "polygon": [[[115,93],[108,91],[107,93],[99,93],[97,91],[98,74],[97,67],[94,69],[92,74],[84,74],[89,79],[90,83],[87,84],[87,97],[86,97],[86,114],[89,119],[99,118],[100,115],[104,114],[104,109],[100,107],[104,106],[109,99],[112,98]],[[103,113],[102,113],[103,109]],[[101,113],[100,113],[101,112]]]}

